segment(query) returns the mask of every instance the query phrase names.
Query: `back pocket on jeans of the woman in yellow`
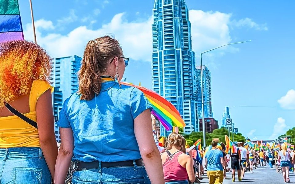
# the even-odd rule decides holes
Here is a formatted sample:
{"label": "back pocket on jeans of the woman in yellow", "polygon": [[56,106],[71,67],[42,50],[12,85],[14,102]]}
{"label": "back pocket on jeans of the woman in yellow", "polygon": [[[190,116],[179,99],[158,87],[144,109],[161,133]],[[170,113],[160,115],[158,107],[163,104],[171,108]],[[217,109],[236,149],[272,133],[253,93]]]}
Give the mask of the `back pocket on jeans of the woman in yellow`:
{"label": "back pocket on jeans of the woman in yellow", "polygon": [[42,169],[39,168],[13,168],[14,183],[41,183]]}

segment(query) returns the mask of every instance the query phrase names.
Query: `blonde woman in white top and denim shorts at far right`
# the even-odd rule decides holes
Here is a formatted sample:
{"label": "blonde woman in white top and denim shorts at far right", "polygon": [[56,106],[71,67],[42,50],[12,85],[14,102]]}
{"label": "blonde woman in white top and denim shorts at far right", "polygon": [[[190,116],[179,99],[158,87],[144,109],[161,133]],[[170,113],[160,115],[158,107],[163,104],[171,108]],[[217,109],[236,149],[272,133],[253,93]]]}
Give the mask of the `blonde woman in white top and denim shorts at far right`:
{"label": "blonde woman in white top and denim shorts at far right", "polygon": [[290,166],[290,154],[287,151],[287,144],[281,144],[281,151],[278,154],[278,160],[281,160],[281,167],[283,171],[284,182],[290,182],[289,178],[289,166]]}

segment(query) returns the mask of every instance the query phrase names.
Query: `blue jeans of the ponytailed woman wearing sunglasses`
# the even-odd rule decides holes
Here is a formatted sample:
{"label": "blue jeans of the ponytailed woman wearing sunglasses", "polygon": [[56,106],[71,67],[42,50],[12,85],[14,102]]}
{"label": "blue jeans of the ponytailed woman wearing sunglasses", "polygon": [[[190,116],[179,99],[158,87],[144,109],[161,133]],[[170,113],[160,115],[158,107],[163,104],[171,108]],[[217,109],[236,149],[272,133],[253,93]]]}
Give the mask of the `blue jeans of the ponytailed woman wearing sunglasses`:
{"label": "blue jeans of the ponytailed woman wearing sunglasses", "polygon": [[151,183],[145,168],[142,166],[130,167],[101,167],[97,169],[75,171],[72,183]]}

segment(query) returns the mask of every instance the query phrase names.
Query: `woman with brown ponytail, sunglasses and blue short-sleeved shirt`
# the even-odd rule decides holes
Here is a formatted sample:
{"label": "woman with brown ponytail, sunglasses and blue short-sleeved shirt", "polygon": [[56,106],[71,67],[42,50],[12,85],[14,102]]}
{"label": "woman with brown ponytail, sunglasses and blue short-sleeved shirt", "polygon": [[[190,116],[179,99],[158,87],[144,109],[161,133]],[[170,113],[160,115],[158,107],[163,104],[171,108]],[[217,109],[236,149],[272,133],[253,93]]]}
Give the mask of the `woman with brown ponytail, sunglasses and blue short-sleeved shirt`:
{"label": "woman with brown ponytail, sunglasses and blue short-sleeved shirt", "polygon": [[78,166],[72,183],[165,182],[152,106],[140,90],[120,83],[128,60],[110,36],[87,43],[79,90],[65,100],[57,122],[55,183],[65,183],[71,160]]}

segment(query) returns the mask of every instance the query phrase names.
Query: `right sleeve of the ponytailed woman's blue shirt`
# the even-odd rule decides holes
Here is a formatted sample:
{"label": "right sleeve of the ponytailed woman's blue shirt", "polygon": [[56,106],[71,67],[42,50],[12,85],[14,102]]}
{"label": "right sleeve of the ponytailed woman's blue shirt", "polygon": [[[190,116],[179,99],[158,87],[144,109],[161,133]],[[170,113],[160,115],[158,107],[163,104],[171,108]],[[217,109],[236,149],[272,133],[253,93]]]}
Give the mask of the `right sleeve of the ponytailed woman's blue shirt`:
{"label": "right sleeve of the ponytailed woman's blue shirt", "polygon": [[144,93],[139,89],[134,88],[130,95],[130,107],[133,119],[146,109],[152,110],[151,103],[144,96]]}

